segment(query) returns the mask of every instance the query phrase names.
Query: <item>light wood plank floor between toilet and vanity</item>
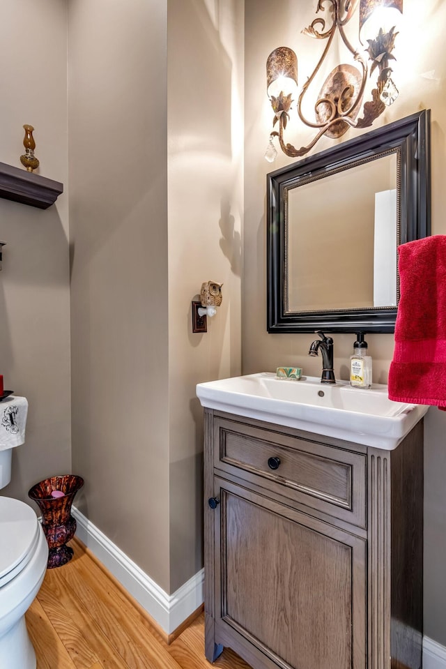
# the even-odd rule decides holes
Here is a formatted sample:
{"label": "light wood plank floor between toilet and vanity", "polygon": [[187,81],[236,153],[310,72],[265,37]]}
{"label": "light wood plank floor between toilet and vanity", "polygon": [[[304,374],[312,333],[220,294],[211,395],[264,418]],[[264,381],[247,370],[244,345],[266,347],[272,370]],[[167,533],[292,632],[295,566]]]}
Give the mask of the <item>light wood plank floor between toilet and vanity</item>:
{"label": "light wood plank floor between toilet and vanity", "polygon": [[47,571],[26,613],[37,669],[250,669],[228,648],[206,660],[202,613],[167,645],[82,543],[70,546],[71,562]]}

